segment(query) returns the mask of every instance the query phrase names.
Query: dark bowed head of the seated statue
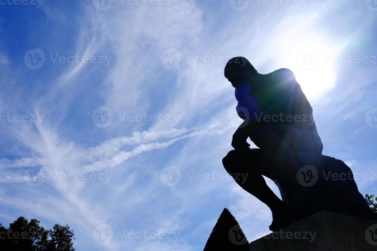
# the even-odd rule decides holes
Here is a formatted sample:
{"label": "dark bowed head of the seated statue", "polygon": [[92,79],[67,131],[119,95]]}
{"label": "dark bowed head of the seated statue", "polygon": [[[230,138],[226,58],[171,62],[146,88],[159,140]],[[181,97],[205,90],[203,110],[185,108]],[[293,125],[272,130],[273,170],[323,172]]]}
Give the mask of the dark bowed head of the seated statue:
{"label": "dark bowed head of the seated statue", "polygon": [[244,57],[232,58],[225,65],[224,76],[231,82],[233,87],[242,82],[250,82],[256,75],[257,70]]}

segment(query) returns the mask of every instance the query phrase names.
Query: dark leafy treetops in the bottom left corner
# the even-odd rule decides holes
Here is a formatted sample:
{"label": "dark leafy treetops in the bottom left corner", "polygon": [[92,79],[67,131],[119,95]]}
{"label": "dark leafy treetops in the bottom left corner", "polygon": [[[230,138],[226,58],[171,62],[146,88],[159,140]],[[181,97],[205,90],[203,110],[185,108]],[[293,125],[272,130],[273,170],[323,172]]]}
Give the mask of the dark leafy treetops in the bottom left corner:
{"label": "dark leafy treetops in the bottom left corner", "polygon": [[40,227],[40,221],[28,222],[20,217],[6,229],[0,224],[0,246],[12,251],[75,251],[72,240],[73,230],[68,225],[55,224],[54,230]]}

